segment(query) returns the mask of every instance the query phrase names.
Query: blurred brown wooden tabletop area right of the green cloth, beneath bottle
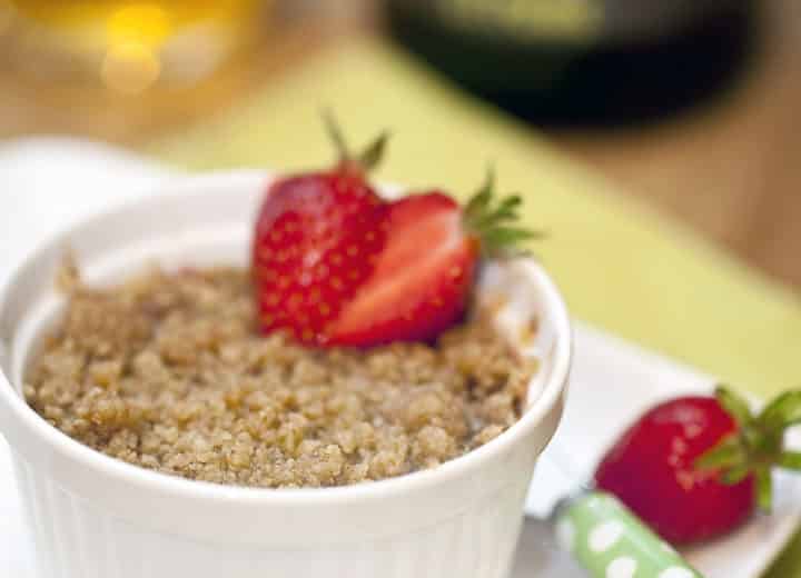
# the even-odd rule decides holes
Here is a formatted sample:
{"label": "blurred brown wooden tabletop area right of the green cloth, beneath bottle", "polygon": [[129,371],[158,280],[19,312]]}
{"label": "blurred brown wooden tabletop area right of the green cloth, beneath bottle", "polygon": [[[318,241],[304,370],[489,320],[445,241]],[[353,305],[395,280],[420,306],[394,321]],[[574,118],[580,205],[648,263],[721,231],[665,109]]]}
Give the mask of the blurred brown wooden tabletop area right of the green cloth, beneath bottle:
{"label": "blurred brown wooden tabletop area right of the green cloth, beneath bottle", "polygon": [[801,3],[771,1],[768,31],[726,101],[650,130],[554,138],[626,192],[801,289]]}

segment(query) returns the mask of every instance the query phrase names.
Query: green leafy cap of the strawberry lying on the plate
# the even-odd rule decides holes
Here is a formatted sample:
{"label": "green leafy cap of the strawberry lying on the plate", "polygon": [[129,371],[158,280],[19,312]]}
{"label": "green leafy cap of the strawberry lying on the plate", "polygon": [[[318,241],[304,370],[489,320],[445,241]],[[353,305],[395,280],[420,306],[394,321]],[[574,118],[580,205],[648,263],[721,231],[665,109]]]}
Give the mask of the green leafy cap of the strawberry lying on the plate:
{"label": "green leafy cap of the strawberry lying on the plate", "polygon": [[756,416],[743,398],[723,386],[715,389],[715,397],[738,430],[699,457],[695,468],[718,471],[718,479],[725,485],[754,476],[756,501],[770,511],[772,468],[801,471],[801,452],[784,449],[785,431],[801,422],[801,390],[780,395]]}

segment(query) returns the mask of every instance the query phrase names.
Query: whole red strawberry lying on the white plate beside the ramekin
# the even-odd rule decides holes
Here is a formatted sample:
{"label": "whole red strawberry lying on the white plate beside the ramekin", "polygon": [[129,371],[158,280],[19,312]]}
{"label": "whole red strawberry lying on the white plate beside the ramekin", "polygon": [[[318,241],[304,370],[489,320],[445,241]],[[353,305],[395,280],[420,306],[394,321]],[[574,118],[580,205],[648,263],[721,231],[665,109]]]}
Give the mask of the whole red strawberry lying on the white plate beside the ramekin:
{"label": "whole red strawberry lying on the white plate beside the ramekin", "polygon": [[800,420],[801,391],[758,416],[722,387],[715,397],[666,401],[614,445],[595,482],[673,544],[715,538],[756,506],[770,509],[772,467],[801,467],[801,455],[784,449],[784,431]]}

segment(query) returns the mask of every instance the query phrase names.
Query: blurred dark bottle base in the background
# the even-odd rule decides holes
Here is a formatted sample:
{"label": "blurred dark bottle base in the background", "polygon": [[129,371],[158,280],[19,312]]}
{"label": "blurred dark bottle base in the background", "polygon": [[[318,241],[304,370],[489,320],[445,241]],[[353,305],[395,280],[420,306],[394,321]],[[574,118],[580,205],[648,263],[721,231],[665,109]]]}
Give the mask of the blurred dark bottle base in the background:
{"label": "blurred dark bottle base in the background", "polygon": [[759,0],[385,0],[392,34],[537,124],[622,126],[720,94],[756,52]]}

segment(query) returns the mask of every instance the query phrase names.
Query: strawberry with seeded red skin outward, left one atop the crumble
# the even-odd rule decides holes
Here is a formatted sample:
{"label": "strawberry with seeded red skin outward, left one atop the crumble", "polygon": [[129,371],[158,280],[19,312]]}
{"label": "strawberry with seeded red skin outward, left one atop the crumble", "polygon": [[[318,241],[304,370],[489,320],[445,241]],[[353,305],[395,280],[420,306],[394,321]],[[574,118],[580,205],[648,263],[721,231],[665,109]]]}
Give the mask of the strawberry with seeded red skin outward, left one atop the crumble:
{"label": "strawberry with seeded red skin outward, left one atop the crumble", "polygon": [[372,275],[386,239],[387,208],[365,177],[379,161],[386,134],[353,157],[333,119],[326,120],[339,161],[275,181],[253,240],[261,330],[289,331],[309,345],[329,341],[330,322]]}

